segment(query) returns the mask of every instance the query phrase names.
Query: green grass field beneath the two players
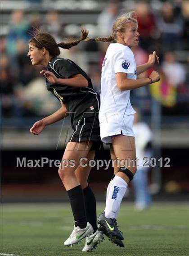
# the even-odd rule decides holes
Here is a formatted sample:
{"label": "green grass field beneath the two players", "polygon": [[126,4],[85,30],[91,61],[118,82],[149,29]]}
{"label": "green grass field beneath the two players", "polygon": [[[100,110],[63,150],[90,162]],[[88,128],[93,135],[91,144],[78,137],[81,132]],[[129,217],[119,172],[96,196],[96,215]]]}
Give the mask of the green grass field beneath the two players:
{"label": "green grass field beneath the two players", "polygon": [[[104,204],[98,204],[98,213]],[[92,256],[188,256],[189,207],[184,203],[156,203],[144,212],[135,212],[123,203],[118,224],[125,247],[108,238]],[[85,241],[65,247],[72,232],[70,207],[62,205],[2,205],[1,256],[80,256]]]}

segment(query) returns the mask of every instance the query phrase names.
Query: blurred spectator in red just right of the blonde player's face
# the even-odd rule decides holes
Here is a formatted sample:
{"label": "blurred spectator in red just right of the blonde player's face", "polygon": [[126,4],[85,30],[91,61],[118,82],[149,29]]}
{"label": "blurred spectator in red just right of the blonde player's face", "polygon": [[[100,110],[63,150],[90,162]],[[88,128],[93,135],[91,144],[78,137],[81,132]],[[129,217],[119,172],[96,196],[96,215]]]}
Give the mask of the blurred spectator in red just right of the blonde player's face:
{"label": "blurred spectator in red just right of the blonde player's face", "polygon": [[148,50],[156,35],[156,26],[153,14],[149,10],[147,2],[137,1],[135,11],[137,13],[138,27],[140,32],[140,46]]}

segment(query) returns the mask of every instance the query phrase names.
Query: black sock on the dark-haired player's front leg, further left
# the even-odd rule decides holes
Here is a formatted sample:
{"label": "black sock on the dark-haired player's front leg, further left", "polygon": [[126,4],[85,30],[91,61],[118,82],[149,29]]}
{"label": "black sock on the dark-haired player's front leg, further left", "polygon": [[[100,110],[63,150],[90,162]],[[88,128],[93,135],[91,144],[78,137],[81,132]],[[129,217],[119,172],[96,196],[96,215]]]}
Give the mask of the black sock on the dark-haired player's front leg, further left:
{"label": "black sock on the dark-haired player's front leg, further left", "polygon": [[73,187],[67,191],[75,220],[75,226],[84,229],[87,224],[85,212],[85,199],[81,185]]}

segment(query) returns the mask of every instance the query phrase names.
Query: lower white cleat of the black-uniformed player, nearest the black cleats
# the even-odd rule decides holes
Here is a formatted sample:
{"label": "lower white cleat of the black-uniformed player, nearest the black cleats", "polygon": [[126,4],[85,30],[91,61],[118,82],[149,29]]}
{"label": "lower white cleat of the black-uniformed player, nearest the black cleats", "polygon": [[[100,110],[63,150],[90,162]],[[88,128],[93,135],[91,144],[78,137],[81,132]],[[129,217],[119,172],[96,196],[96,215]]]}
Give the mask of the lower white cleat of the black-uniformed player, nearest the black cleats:
{"label": "lower white cleat of the black-uniformed player, nearest the black cleats", "polygon": [[95,247],[97,247],[98,243],[102,242],[104,239],[103,233],[101,233],[98,229],[94,232],[94,234],[86,237],[85,247],[82,251],[92,251]]}

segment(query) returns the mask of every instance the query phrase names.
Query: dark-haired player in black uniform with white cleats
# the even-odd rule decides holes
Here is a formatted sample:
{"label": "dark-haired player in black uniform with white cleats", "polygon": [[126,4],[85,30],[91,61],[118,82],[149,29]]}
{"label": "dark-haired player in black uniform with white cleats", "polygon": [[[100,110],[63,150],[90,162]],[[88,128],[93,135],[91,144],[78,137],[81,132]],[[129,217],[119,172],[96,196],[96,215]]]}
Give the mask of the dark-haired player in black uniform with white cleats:
{"label": "dark-haired player in black uniform with white cleats", "polygon": [[[47,90],[60,101],[61,108],[54,114],[33,124],[30,132],[40,134],[46,125],[55,123],[67,114],[71,116],[74,130],[63,154],[58,174],[67,190],[75,220],[74,229],[64,245],[70,246],[86,238],[83,251],[91,251],[103,240],[103,234],[96,225],[96,201],[87,179],[90,166],[83,167],[79,160],[86,157],[86,163],[94,159],[95,149],[100,145],[99,137],[99,95],[94,91],[90,78],[72,60],[58,58],[58,47],[70,49],[85,40],[88,32],[81,29],[82,36],[68,43],[56,43],[49,33],[36,31],[29,41],[28,57],[32,65],[43,65],[40,73],[45,75]],[[70,160],[74,160],[74,165]],[[67,165],[68,162],[68,165]],[[84,164],[84,163],[82,163]]]}

